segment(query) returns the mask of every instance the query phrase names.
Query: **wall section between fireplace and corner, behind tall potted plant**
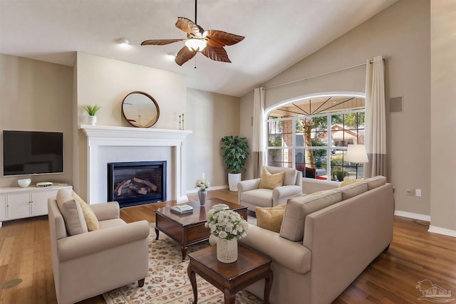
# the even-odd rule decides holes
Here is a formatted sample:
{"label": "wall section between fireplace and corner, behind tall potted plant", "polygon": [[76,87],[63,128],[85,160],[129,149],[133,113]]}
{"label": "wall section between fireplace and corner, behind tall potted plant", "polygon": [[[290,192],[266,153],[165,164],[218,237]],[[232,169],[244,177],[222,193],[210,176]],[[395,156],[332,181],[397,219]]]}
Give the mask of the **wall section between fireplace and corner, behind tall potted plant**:
{"label": "wall section between fireplace and corner, behind tall potted plant", "polygon": [[185,128],[193,130],[187,137],[187,189],[195,188],[202,173],[211,187],[227,187],[220,140],[239,135],[239,103],[238,97],[187,89]]}

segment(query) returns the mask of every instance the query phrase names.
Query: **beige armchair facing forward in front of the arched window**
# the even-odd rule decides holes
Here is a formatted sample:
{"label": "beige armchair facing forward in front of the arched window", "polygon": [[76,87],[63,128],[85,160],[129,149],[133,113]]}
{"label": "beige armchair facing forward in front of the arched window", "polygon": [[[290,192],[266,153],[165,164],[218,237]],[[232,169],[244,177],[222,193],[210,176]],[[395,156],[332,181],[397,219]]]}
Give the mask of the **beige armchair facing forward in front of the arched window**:
{"label": "beige armchair facing forward in front of the arched window", "polygon": [[259,188],[261,179],[248,179],[237,184],[239,204],[250,211],[257,207],[285,204],[291,197],[302,195],[302,172],[294,168],[266,167],[271,174],[285,172],[284,185],[275,189]]}

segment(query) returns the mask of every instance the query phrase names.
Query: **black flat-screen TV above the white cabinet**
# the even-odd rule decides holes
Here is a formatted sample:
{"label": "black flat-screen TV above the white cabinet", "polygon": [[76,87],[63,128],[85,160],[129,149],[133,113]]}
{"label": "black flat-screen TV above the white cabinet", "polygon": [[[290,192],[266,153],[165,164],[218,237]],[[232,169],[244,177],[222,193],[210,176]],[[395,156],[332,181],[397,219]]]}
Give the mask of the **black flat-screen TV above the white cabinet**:
{"label": "black flat-screen TV above the white cabinet", "polygon": [[63,133],[3,131],[3,174],[63,173]]}

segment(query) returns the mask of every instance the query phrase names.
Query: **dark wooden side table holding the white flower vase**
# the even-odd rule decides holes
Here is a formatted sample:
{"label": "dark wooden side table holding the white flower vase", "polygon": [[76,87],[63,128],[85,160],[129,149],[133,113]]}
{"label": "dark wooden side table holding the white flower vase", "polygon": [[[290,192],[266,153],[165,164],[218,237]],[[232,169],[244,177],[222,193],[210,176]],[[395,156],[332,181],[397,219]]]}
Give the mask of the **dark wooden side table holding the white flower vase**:
{"label": "dark wooden side table holding the white flower vase", "polygon": [[196,273],[222,290],[226,304],[234,304],[238,291],[264,278],[263,303],[269,304],[269,293],[272,286],[271,259],[242,244],[238,246],[238,258],[234,263],[219,262],[217,246],[189,253],[190,263],[187,273],[190,283],[192,283],[193,304],[198,302]]}

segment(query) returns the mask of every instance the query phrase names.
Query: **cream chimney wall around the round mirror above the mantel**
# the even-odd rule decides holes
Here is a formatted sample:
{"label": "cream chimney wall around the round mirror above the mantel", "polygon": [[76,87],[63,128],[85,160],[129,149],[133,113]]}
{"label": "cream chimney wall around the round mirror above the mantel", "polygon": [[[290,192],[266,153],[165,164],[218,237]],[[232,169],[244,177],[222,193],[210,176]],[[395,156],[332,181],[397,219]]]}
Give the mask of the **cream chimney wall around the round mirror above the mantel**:
{"label": "cream chimney wall around the round mirror above the mantel", "polygon": [[[98,104],[97,125],[132,127],[122,116],[122,101],[128,93],[143,91],[152,95],[160,108],[160,117],[153,128],[178,129],[178,115],[185,113],[187,91],[185,76],[126,63],[110,58],[78,52],[75,63],[77,122],[86,123],[84,105]],[[87,142],[81,130],[77,132],[78,176],[75,177],[76,191],[87,199]]]}

